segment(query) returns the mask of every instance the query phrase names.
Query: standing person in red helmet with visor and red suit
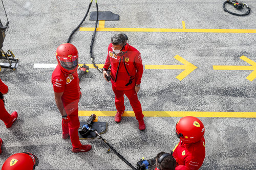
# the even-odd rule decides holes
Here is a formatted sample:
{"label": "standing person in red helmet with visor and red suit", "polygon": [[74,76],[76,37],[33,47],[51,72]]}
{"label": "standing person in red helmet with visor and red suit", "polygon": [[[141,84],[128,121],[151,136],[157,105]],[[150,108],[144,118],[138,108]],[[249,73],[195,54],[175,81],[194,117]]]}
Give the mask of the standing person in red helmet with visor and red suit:
{"label": "standing person in red helmet with visor and red suit", "polygon": [[52,74],[55,102],[62,116],[62,138],[70,136],[72,152],[88,152],[92,146],[81,144],[78,136],[80,126],[78,102],[81,97],[77,74],[78,52],[70,43],[61,44],[56,51],[58,65]]}

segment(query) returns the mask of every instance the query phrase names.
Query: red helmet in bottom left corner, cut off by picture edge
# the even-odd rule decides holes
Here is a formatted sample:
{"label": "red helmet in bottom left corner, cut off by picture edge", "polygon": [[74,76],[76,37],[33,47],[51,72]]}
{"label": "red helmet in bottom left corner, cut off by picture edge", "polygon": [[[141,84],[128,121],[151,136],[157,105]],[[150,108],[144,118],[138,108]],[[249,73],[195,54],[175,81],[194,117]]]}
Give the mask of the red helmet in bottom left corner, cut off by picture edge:
{"label": "red helmet in bottom left corner, cut off by picture edge", "polygon": [[17,153],[6,159],[2,170],[34,170],[38,163],[38,158],[31,153]]}

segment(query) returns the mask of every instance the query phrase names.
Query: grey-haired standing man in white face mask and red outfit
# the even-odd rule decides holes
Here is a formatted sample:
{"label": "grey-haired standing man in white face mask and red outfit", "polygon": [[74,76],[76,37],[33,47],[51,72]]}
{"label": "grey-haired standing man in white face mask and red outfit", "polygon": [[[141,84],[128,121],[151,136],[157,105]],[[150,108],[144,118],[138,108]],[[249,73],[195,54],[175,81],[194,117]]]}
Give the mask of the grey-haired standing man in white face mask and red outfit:
{"label": "grey-haired standing man in white face mask and red outfit", "polygon": [[[121,116],[125,110],[123,98],[125,94],[138,120],[139,129],[144,130],[144,115],[142,114],[141,104],[137,95],[140,90],[143,65],[140,52],[129,45],[127,40],[128,38],[125,34],[115,34],[111,38],[111,43],[108,47],[108,56],[106,57],[102,72],[106,81],[109,81],[107,76],[111,76],[117,109],[115,122],[121,122]],[[109,75],[106,70],[108,70],[110,65],[111,74]]]}

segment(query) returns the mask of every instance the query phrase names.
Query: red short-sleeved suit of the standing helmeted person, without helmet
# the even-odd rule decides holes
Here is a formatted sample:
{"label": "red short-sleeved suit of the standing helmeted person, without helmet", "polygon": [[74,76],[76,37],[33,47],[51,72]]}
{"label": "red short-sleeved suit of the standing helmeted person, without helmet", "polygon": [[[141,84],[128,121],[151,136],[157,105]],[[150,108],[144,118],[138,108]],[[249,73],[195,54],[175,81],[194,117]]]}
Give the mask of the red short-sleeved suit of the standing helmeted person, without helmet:
{"label": "red short-sleeved suit of the standing helmeted person, without helmet", "polygon": [[66,74],[61,71],[60,66],[57,65],[52,73],[52,84],[54,92],[63,92],[61,100],[70,119],[69,123],[63,123],[62,121],[62,134],[69,133],[73,147],[79,148],[81,147],[81,142],[78,136],[80,126],[78,102],[81,92],[77,71],[73,74]]}

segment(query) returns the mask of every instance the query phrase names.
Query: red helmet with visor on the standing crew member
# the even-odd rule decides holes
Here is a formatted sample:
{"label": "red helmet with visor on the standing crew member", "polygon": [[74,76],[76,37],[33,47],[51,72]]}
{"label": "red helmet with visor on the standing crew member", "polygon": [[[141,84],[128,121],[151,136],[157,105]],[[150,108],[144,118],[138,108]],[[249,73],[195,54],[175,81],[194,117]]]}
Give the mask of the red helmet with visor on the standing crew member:
{"label": "red helmet with visor on the standing crew member", "polygon": [[59,45],[56,50],[56,59],[61,70],[67,74],[77,71],[78,52],[74,45],[70,43]]}

